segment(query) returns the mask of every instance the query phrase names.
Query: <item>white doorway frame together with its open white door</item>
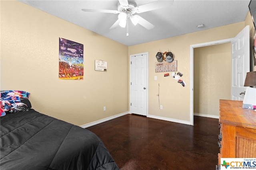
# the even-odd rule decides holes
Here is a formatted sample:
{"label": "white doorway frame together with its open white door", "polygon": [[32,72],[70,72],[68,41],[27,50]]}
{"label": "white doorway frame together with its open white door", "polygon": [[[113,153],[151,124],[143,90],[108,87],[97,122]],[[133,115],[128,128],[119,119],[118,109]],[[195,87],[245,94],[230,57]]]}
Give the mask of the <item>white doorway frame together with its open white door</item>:
{"label": "white doorway frame together with its open white door", "polygon": [[[238,96],[238,90],[245,91],[246,72],[250,71],[250,34],[249,25],[244,27],[236,37],[208,43],[190,45],[190,124],[194,125],[194,48],[222,43],[231,43],[231,96]],[[242,95],[240,93],[239,95]],[[210,96],[209,96],[210,97]],[[232,97],[234,100],[234,97]],[[218,107],[217,107],[218,108]]]}

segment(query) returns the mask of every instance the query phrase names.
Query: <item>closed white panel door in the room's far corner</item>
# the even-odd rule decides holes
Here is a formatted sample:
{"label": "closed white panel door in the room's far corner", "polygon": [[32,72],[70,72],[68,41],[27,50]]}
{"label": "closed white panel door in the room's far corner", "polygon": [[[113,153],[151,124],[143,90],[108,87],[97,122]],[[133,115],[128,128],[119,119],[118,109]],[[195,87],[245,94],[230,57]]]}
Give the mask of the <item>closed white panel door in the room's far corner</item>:
{"label": "closed white panel door in the room's far corner", "polygon": [[130,55],[130,112],[147,115],[148,53]]}

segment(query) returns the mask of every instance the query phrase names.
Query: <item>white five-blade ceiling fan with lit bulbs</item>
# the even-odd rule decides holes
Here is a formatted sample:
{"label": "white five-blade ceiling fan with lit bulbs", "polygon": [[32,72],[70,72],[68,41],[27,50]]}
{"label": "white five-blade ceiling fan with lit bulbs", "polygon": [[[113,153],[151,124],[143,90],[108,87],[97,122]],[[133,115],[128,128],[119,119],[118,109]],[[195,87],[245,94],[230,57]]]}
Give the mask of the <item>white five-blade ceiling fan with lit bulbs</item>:
{"label": "white five-blade ceiling fan with lit bulbs", "polygon": [[[173,4],[173,0],[162,0],[153,1],[148,4],[137,6],[134,0],[118,0],[117,10],[100,10],[100,9],[82,9],[84,12],[103,12],[103,13],[113,13],[118,14],[118,20],[110,27],[110,29],[116,28],[118,25],[120,27],[126,27],[127,22],[130,18],[134,25],[140,24],[146,29],[153,29],[154,25],[149,21],[145,20],[139,15],[134,15],[135,13],[148,12],[160,8],[170,7]],[[128,29],[128,28],[127,28]],[[128,34],[128,33],[127,33]]]}

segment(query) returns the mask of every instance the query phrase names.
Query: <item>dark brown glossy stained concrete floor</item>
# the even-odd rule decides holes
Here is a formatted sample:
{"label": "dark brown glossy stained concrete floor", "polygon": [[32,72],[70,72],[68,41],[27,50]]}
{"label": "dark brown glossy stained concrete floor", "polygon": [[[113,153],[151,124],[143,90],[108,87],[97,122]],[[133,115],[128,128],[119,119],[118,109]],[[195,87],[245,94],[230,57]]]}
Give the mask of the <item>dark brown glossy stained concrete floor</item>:
{"label": "dark brown glossy stained concrete floor", "polygon": [[194,126],[128,114],[86,128],[100,137],[121,170],[215,170],[218,119]]}

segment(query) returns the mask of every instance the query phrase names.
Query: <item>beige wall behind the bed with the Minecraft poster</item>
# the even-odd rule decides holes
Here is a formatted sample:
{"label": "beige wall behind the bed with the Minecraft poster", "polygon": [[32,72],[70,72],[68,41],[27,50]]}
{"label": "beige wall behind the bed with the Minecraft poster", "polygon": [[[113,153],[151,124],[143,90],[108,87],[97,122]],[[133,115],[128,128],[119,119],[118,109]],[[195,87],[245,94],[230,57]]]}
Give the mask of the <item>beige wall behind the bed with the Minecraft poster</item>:
{"label": "beige wall behind the bed with the Minecraft poster", "polygon": [[[0,3],[0,90],[30,92],[32,108],[76,125],[128,111],[127,46],[22,2]],[[84,45],[84,80],[58,79],[59,37]],[[108,71],[95,71],[95,60]]]}

